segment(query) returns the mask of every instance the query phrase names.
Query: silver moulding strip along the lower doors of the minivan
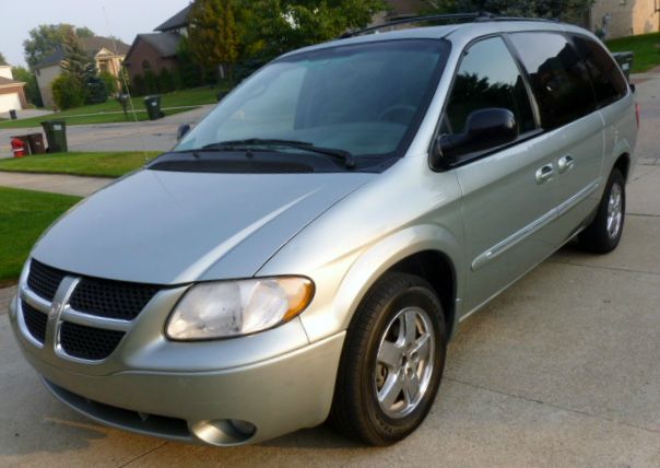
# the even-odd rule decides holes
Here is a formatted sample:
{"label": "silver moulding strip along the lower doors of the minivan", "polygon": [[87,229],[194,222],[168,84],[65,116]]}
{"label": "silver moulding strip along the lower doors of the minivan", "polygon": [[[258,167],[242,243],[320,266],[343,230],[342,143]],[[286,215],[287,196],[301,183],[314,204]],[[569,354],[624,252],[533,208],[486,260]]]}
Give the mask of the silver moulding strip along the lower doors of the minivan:
{"label": "silver moulding strip along the lower doors of the minivan", "polygon": [[541,227],[549,224],[551,221],[559,218],[565,214],[567,211],[579,204],[587,197],[593,194],[598,187],[600,186],[600,178],[596,182],[592,182],[587,187],[582,188],[580,191],[571,196],[569,199],[561,203],[559,206],[553,208],[541,218],[534,220],[532,223],[522,227],[520,231],[515,232],[504,241],[495,244],[493,247],[488,248],[486,251],[480,254],[472,261],[472,271],[476,271],[480,268],[483,268],[485,265],[497,258],[499,255],[504,254],[509,248],[514,247],[519,242],[522,242],[525,238],[529,237]]}

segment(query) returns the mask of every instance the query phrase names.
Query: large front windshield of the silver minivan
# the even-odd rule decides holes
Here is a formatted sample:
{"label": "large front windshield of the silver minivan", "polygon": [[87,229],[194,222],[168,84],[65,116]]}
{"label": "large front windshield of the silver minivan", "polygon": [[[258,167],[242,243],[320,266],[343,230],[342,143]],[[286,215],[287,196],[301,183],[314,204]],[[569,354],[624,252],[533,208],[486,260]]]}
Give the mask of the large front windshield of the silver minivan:
{"label": "large front windshield of the silver minivan", "polygon": [[223,100],[175,150],[260,139],[306,142],[355,159],[401,155],[447,49],[441,40],[403,39],[278,59]]}

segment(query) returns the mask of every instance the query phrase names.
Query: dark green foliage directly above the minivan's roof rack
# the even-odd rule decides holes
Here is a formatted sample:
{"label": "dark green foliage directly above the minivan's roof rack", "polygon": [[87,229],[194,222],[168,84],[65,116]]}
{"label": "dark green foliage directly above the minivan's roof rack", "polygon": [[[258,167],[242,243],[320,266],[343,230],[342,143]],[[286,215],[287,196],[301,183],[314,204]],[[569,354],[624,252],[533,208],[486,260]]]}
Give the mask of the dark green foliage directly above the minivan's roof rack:
{"label": "dark green foliage directly above the minivan's roof rack", "polygon": [[581,23],[594,0],[427,0],[431,11],[456,13],[487,11],[505,16],[558,19]]}

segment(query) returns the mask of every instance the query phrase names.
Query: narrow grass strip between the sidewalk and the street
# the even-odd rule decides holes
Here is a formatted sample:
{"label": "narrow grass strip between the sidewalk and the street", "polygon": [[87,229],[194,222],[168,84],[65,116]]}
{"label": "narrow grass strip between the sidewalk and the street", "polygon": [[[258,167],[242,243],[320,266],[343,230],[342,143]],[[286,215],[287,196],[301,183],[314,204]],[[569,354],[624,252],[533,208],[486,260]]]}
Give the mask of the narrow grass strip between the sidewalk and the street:
{"label": "narrow grass strip between the sidewalk and the street", "polygon": [[119,177],[158,152],[52,153],[0,160],[0,171]]}

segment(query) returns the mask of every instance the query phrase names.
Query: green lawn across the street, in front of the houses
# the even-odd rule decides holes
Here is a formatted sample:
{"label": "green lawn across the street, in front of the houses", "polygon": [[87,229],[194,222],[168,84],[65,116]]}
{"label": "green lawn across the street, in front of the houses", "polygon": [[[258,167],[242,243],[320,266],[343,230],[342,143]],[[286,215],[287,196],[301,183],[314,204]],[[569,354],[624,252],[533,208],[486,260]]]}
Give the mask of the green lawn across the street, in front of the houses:
{"label": "green lawn across the street, in front of the houses", "polygon": [[[200,106],[203,104],[215,104],[217,102],[217,98],[215,97],[217,91],[219,89],[216,87],[211,89],[209,86],[202,86],[163,94],[163,97],[161,100],[161,107]],[[144,98],[134,97],[132,102],[137,110],[138,120],[146,120],[148,115],[144,108]],[[190,109],[169,109],[165,110],[165,115],[173,115],[186,110]],[[42,121],[54,119],[66,120],[68,125],[110,124],[126,121],[119,103],[117,103],[117,101],[115,100],[108,100],[103,104],[76,107],[48,116],[0,121],[0,129],[40,127]],[[129,121],[132,120],[133,116],[129,113]]]}

